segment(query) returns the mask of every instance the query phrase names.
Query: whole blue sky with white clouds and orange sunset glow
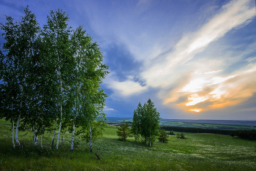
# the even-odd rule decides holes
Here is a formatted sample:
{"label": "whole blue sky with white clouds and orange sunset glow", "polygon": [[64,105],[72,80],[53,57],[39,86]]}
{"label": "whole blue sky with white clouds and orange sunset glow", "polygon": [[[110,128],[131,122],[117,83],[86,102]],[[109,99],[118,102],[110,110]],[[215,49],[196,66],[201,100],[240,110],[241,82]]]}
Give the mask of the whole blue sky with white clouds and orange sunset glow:
{"label": "whole blue sky with white clouds and orange sunset glow", "polygon": [[255,0],[1,0],[0,23],[27,5],[40,26],[63,9],[99,44],[107,117],[150,98],[161,118],[256,121]]}

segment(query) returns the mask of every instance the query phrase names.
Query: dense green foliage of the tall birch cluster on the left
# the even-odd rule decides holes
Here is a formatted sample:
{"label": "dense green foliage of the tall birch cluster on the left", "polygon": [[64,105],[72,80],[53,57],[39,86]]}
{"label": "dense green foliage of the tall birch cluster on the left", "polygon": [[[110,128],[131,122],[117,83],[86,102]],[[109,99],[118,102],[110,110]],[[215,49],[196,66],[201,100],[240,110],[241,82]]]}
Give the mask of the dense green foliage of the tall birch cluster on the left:
{"label": "dense green foliage of the tall birch cluster on the left", "polygon": [[6,17],[1,23],[7,54],[0,51],[0,118],[17,123],[17,131],[32,130],[34,142],[58,123],[56,148],[61,131],[79,126],[101,137],[95,121],[105,121],[100,84],[109,72],[99,45],[83,27],[71,30],[61,9],[50,10],[42,29],[29,7],[24,12],[18,22]]}

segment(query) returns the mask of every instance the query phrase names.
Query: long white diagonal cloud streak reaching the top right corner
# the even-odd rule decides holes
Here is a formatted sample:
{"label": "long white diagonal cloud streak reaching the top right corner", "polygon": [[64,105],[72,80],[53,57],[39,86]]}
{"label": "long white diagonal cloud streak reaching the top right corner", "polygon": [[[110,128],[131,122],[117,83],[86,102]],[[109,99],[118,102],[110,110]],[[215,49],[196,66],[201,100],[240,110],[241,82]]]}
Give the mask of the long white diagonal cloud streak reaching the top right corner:
{"label": "long white diagonal cloud streak reaching the top right corner", "polygon": [[146,66],[142,75],[148,86],[165,88],[170,85],[173,83],[173,75],[180,69],[177,69],[177,66],[184,66],[195,54],[224,36],[227,31],[252,20],[255,17],[255,8],[250,7],[249,2],[249,0],[230,1],[198,31],[185,34],[164,60]]}

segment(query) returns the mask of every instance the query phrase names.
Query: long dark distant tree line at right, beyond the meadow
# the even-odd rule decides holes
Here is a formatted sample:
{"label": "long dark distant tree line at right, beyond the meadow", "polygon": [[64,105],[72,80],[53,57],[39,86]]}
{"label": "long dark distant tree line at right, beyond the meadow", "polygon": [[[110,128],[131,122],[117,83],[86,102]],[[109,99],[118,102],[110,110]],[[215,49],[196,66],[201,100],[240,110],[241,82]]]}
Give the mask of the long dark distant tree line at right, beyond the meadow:
{"label": "long dark distant tree line at right, beyond the meadow", "polygon": [[161,129],[174,132],[192,132],[192,133],[211,133],[211,134],[226,134],[232,136],[238,136],[242,139],[256,140],[256,130],[227,130],[227,129],[202,129],[193,127],[181,127],[181,126],[161,126]]}

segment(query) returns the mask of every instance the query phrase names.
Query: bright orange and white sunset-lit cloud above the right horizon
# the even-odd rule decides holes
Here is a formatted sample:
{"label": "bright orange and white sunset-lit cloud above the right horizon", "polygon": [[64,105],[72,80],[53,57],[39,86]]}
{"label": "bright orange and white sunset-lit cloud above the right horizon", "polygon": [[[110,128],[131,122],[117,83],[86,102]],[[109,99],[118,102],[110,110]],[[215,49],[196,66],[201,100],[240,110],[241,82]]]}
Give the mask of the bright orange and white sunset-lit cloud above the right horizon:
{"label": "bright orange and white sunset-lit cloud above the right horizon", "polygon": [[194,72],[185,81],[186,84],[181,83],[170,92],[165,104],[171,102],[178,109],[194,115],[202,111],[235,106],[256,93],[256,80],[252,72],[256,74],[256,66],[222,77],[215,71]]}

